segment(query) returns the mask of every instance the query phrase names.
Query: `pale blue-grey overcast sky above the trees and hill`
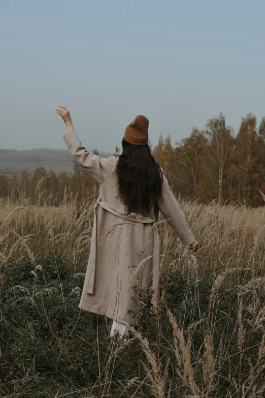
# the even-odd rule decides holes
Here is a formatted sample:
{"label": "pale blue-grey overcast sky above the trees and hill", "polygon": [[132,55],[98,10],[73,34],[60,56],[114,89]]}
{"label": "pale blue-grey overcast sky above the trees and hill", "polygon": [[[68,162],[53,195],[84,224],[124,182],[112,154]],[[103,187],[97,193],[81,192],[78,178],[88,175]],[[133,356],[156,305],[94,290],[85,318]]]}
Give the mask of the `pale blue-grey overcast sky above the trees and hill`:
{"label": "pale blue-grey overcast sky above the trees and hill", "polygon": [[115,150],[138,115],[172,144],[265,115],[262,0],[0,0],[0,148]]}

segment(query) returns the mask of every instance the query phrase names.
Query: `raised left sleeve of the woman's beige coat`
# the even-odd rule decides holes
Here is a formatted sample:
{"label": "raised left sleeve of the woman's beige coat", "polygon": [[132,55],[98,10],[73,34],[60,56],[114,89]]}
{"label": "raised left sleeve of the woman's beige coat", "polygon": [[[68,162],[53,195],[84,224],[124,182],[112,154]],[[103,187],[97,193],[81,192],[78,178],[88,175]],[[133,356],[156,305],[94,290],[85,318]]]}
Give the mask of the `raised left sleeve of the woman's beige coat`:
{"label": "raised left sleeve of the woman's beige coat", "polygon": [[75,130],[66,133],[63,139],[75,161],[101,184],[108,175],[110,158],[102,158],[88,151],[81,144]]}

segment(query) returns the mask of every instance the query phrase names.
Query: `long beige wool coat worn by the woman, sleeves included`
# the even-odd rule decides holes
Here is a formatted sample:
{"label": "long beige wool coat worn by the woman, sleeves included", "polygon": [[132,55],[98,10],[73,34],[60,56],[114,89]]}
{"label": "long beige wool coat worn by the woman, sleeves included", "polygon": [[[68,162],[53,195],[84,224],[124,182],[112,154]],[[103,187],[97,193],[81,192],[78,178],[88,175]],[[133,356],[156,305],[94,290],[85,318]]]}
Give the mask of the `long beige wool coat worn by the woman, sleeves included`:
{"label": "long beige wool coat worn by the woman, sleeves included", "polygon": [[88,151],[75,130],[69,131],[63,139],[73,158],[100,184],[79,308],[132,325],[133,319],[128,313],[129,310],[135,311],[135,302],[131,299],[134,294],[130,286],[131,277],[136,269],[139,270],[140,262],[148,256],[145,264],[142,263],[141,284],[143,289],[150,287],[149,278],[153,269],[152,304],[157,304],[159,231],[153,224],[158,221],[159,210],[184,246],[189,246],[194,236],[164,173],[161,198],[148,217],[140,214],[125,217],[124,203],[116,197],[118,158],[102,158]]}

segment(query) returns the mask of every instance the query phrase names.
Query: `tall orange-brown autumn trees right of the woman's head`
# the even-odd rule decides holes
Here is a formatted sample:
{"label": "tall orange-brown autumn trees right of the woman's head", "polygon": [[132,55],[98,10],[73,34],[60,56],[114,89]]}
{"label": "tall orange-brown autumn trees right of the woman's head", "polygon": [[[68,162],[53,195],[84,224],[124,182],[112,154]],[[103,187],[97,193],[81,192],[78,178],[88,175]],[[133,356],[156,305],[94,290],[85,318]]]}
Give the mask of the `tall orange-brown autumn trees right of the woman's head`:
{"label": "tall orange-brown autumn trees right of the woman's head", "polygon": [[170,151],[165,150],[160,136],[153,155],[181,196],[203,203],[214,199],[220,203],[264,204],[265,117],[257,133],[256,118],[249,113],[242,118],[235,137],[234,128],[226,125],[221,112],[207,121],[204,130],[193,128]]}

